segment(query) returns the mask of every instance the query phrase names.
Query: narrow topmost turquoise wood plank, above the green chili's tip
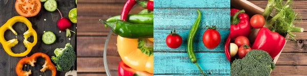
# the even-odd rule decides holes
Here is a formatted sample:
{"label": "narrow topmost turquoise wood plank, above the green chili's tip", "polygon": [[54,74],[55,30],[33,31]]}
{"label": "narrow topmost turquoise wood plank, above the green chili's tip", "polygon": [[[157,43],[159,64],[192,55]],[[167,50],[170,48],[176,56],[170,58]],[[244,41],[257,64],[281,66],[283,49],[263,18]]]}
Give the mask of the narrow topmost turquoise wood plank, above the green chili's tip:
{"label": "narrow topmost turquoise wood plank, above the green chili's tip", "polygon": [[[230,0],[157,0],[154,8],[230,8]],[[155,10],[156,11],[156,10]]]}

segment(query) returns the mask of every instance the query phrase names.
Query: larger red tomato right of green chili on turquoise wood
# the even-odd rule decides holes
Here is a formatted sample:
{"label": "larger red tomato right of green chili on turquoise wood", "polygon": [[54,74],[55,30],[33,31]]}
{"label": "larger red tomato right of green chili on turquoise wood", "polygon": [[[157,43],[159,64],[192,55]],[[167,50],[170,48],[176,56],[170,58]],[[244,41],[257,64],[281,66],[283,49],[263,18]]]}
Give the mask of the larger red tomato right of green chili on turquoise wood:
{"label": "larger red tomato right of green chili on turquoise wood", "polygon": [[207,29],[203,35],[203,43],[208,49],[214,49],[220,44],[221,35],[215,29]]}

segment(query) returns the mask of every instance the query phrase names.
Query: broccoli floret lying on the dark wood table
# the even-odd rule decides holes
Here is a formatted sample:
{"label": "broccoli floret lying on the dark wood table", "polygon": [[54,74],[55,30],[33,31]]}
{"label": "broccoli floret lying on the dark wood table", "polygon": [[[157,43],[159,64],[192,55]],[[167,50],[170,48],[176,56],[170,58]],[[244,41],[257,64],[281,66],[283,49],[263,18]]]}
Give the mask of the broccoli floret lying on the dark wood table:
{"label": "broccoli floret lying on the dark wood table", "polygon": [[69,71],[70,68],[75,64],[76,53],[70,45],[65,45],[65,48],[57,48],[54,50],[55,56],[51,57],[51,60],[56,64],[58,71]]}

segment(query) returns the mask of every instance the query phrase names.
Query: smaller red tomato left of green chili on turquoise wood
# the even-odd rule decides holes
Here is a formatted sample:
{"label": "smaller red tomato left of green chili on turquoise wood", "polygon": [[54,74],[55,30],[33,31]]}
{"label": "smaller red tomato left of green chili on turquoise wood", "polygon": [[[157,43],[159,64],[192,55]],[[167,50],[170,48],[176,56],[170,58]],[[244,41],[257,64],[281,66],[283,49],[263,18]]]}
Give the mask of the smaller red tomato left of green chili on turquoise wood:
{"label": "smaller red tomato left of green chili on turquoise wood", "polygon": [[176,33],[176,30],[174,32],[171,30],[170,34],[166,36],[165,42],[169,48],[176,49],[182,44],[182,37]]}

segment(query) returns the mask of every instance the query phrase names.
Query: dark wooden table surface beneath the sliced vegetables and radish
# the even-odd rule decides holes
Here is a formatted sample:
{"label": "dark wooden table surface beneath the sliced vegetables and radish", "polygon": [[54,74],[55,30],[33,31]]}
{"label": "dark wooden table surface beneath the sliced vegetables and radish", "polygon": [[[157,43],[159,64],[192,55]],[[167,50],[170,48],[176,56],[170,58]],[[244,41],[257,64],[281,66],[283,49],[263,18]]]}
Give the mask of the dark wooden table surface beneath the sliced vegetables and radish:
{"label": "dark wooden table surface beneath the sliced vegetables and radish", "polygon": [[[15,10],[15,2],[12,0],[0,0],[0,26],[2,26],[4,23],[7,22],[10,18],[14,16],[19,16],[19,14]],[[71,9],[76,8],[75,0],[71,1],[57,1],[58,9],[61,11],[63,17],[68,18],[68,13]],[[40,12],[34,16],[34,17],[27,17],[27,19],[32,23],[33,29],[37,32],[37,44],[34,46],[34,48],[31,50],[31,52],[27,56],[31,56],[34,53],[41,52],[47,54],[50,58],[51,56],[55,56],[54,50],[56,48],[64,48],[65,44],[71,43],[73,48],[76,46],[76,34],[72,33],[71,40],[69,40],[65,36],[65,31],[62,31],[59,33],[59,29],[57,27],[57,20],[60,19],[61,16],[58,13],[58,11],[55,12],[48,12],[43,7],[43,3],[41,3],[41,10]],[[44,21],[46,19],[46,21]],[[77,24],[72,23],[71,30],[76,31]],[[12,51],[14,53],[22,53],[27,48],[24,46],[24,35],[23,33],[28,30],[28,27],[26,24],[17,22],[13,25],[13,29],[18,33],[17,39],[18,44],[12,48]],[[43,34],[43,31],[52,31],[57,37],[57,40],[54,44],[46,45],[42,42],[41,36]],[[15,39],[16,36],[10,31],[7,30],[5,32],[5,39],[11,40]],[[30,37],[30,42],[33,42],[33,37]],[[76,51],[76,48],[75,48]],[[24,57],[12,57],[8,55],[4,49],[3,46],[0,45],[0,75],[17,75],[15,71],[15,67],[17,62]],[[51,75],[51,71],[47,70],[45,72],[40,72],[39,69],[41,69],[43,63],[45,63],[45,59],[38,58],[37,62],[35,63],[35,66],[32,67],[30,65],[27,65],[27,67],[24,66],[24,70],[31,69],[32,74],[31,75]],[[71,68],[71,70],[76,70],[76,64]],[[65,72],[57,71],[57,75],[65,75]]]}

